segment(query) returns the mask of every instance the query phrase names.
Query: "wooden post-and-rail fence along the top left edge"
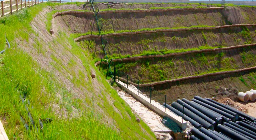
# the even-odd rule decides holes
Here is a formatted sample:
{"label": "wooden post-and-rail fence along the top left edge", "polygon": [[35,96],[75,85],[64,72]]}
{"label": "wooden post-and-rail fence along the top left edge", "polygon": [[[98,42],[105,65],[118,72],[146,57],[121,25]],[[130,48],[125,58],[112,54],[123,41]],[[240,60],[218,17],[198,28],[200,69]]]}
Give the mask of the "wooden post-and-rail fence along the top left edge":
{"label": "wooden post-and-rail fence along the top left edge", "polygon": [[13,14],[13,12],[18,11],[23,8],[30,8],[33,7],[36,4],[44,3],[44,2],[89,2],[89,0],[59,0],[59,1],[47,1],[47,0],[4,0],[1,1],[1,7],[0,10],[2,11],[2,14],[0,17],[3,17],[8,14]]}

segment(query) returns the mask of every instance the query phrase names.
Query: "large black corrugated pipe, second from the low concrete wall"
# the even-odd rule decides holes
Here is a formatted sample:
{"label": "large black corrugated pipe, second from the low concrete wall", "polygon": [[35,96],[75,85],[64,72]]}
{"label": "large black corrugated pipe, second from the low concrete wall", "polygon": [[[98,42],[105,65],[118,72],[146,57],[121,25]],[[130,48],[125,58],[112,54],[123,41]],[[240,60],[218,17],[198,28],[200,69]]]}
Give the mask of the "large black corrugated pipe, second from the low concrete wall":
{"label": "large black corrugated pipe, second from the low concrete wall", "polygon": [[[171,104],[171,106],[174,107],[175,109],[179,110],[180,112],[183,111],[183,106],[177,102],[173,102]],[[184,107],[184,114],[187,115],[189,118],[193,119],[194,121],[198,122],[199,124],[201,124],[204,128],[214,130],[214,126],[212,124],[205,121],[201,117],[197,116],[195,113],[191,112],[190,110],[188,110],[185,107]]]}

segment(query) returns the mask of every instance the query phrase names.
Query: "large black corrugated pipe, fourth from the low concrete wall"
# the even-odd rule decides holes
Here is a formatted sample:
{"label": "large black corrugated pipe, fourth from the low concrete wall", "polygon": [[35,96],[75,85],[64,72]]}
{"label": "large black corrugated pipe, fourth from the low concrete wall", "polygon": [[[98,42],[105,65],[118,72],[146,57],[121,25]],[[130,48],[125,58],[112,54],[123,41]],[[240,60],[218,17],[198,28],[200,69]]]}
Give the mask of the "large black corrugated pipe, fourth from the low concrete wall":
{"label": "large black corrugated pipe, fourth from the low concrete wall", "polygon": [[190,105],[191,107],[194,107],[195,109],[197,109],[198,111],[200,111],[201,113],[204,113],[206,116],[208,116],[209,118],[211,118],[212,120],[219,122],[220,116],[216,115],[215,113],[212,113],[209,109],[205,109],[202,108],[198,105],[196,105],[195,103],[192,103],[190,101],[188,101],[187,99],[183,98],[182,99],[183,102],[187,103],[188,105]]}

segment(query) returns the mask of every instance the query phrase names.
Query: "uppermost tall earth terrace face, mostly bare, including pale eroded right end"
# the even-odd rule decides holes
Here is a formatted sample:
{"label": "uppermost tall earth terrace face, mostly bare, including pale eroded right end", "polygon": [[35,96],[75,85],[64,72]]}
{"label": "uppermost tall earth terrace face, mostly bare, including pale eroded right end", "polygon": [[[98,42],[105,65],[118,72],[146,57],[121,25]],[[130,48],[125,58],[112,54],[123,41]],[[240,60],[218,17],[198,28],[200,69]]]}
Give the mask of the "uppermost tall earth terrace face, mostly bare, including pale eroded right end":
{"label": "uppermost tall earth terrace face, mostly bare, including pale eroded right end", "polygon": [[[94,17],[83,13],[67,13],[57,16],[57,22],[66,24],[61,30],[70,27],[71,33],[86,33],[90,28],[78,25],[92,26]],[[87,15],[87,16],[86,16]],[[93,15],[92,15],[93,16]],[[173,8],[149,10],[116,10],[100,11],[99,22],[103,24],[102,31],[137,30],[155,27],[181,27],[193,25],[228,25],[256,23],[256,11],[253,7],[221,7],[213,8]],[[91,22],[84,22],[90,20]],[[57,25],[57,24],[56,24]],[[64,28],[65,27],[65,28]],[[96,29],[93,29],[96,31]]]}

